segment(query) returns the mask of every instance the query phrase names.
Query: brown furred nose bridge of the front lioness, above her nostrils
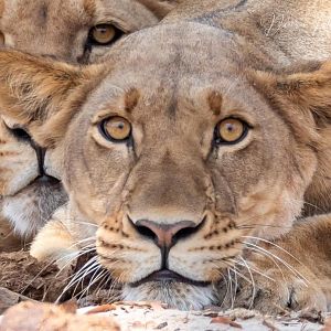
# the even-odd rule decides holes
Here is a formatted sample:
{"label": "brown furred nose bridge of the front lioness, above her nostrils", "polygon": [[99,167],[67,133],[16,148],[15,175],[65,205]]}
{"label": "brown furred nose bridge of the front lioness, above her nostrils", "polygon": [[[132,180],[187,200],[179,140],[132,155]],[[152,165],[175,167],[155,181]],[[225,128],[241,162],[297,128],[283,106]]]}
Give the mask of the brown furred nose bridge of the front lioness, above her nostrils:
{"label": "brown furred nose bridge of the front lioness, above her nostrils", "polygon": [[135,220],[157,223],[201,222],[205,206],[203,168],[199,160],[171,154],[141,160],[129,207]]}

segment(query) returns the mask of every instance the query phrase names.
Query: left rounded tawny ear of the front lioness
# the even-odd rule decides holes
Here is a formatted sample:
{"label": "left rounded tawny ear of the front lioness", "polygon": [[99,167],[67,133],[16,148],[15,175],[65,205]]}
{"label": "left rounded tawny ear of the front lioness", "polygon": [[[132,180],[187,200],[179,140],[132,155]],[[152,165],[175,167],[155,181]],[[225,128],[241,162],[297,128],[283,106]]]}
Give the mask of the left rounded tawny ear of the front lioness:
{"label": "left rounded tawny ear of the front lioness", "polygon": [[49,146],[63,137],[99,73],[100,65],[81,68],[22,52],[0,51],[0,114],[26,128],[42,146]]}

